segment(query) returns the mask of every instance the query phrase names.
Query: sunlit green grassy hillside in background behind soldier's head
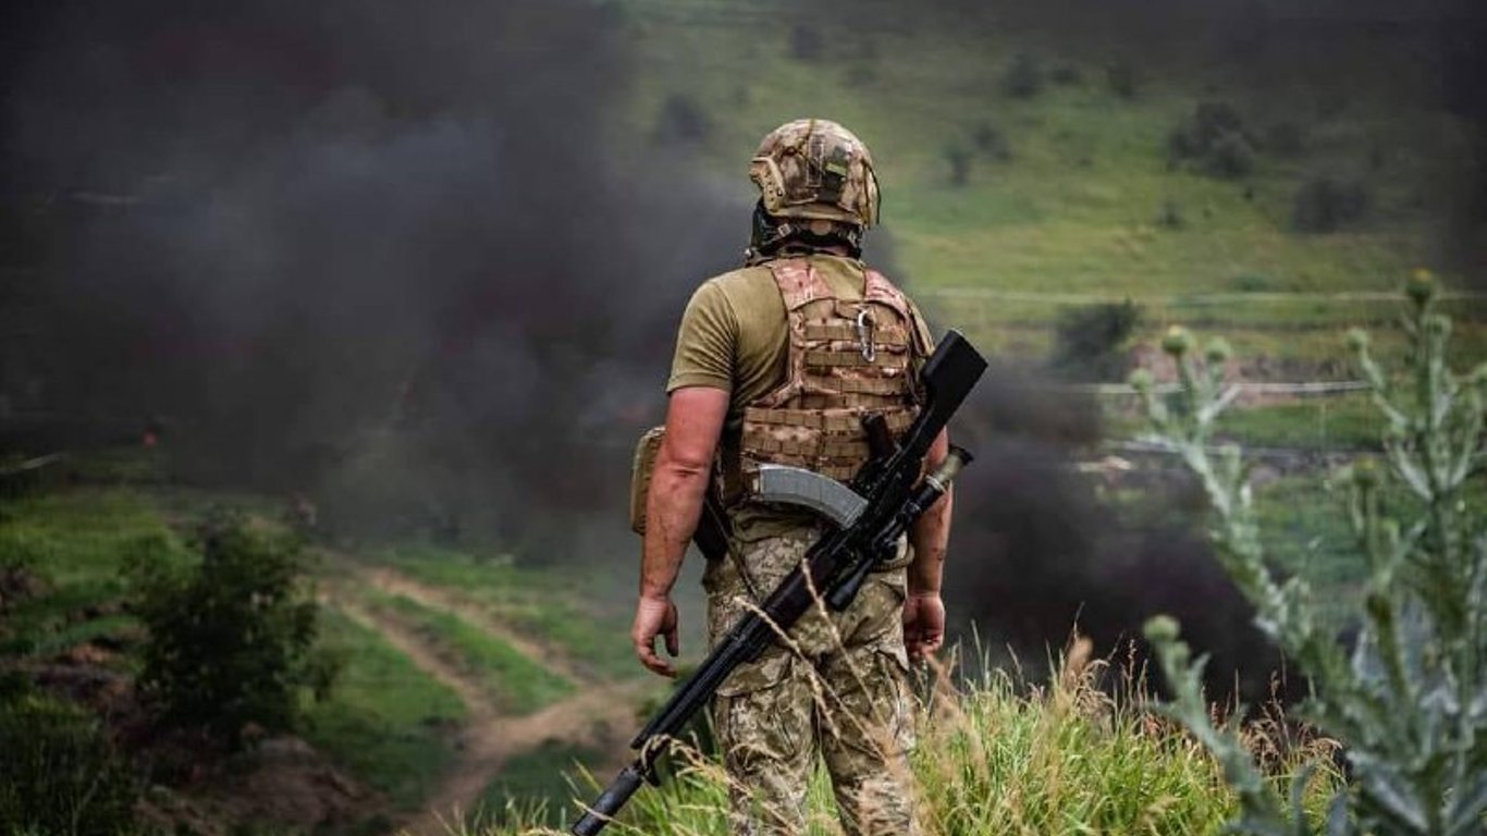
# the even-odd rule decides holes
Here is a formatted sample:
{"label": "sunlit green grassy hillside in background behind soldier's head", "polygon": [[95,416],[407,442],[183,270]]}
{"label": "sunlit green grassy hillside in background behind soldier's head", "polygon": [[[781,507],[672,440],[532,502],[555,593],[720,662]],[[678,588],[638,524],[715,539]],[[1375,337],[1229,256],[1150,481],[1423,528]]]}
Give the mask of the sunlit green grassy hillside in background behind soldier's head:
{"label": "sunlit green grassy hillside in background behind soldier's head", "polygon": [[[1170,62],[1138,57],[1145,82],[1127,100],[1105,85],[1108,52],[1047,36],[1029,39],[975,13],[910,12],[865,0],[852,39],[828,37],[819,58],[801,60],[790,49],[791,24],[804,19],[834,31],[836,22],[812,21],[809,10],[741,9],[712,0],[622,0],[617,7],[636,68],[633,91],[617,115],[620,147],[651,143],[662,103],[688,97],[711,120],[696,149],[694,177],[733,183],[745,202],[751,196],[745,161],[760,135],[801,115],[842,120],[874,152],[885,228],[897,244],[901,275],[926,296],[938,289],[1090,292],[1115,299],[1392,290],[1410,269],[1433,263],[1442,210],[1422,199],[1422,183],[1469,137],[1459,119],[1417,104],[1425,97],[1389,101],[1359,94],[1346,107],[1320,113],[1313,95],[1251,83],[1221,61],[1173,73]],[[749,37],[738,37],[741,30]],[[999,79],[1011,57],[1025,51],[1045,67],[1075,67],[1081,80],[1047,85],[1030,100],[1008,97]],[[1292,122],[1306,134],[1306,149],[1298,156],[1261,152],[1255,171],[1242,180],[1173,168],[1167,132],[1200,100],[1231,103],[1257,131]],[[1005,138],[1011,159],[975,152],[968,183],[952,186],[946,147],[974,149],[983,125]],[[1380,147],[1390,152],[1387,165],[1370,164]],[[1334,170],[1362,173],[1373,192],[1371,216],[1335,234],[1292,231],[1300,184]],[[1178,229],[1158,223],[1167,204],[1181,214]],[[741,238],[744,232],[741,217]],[[1463,278],[1445,277],[1448,284]],[[970,326],[990,350],[1047,348],[1048,314],[1025,317],[999,303],[931,306],[941,324]],[[1152,309],[1151,317],[1157,324],[1185,318],[1212,326],[1243,348],[1274,357],[1319,360],[1335,354],[1335,332],[1386,315],[1378,305],[1288,306],[1237,302],[1212,311]],[[1478,302],[1463,317],[1481,324],[1484,308]],[[1010,324],[1022,327],[989,327]],[[1246,333],[1233,333],[1236,326]],[[1323,330],[1326,338],[1270,333],[1277,327]],[[1487,351],[1480,327],[1471,350]]]}

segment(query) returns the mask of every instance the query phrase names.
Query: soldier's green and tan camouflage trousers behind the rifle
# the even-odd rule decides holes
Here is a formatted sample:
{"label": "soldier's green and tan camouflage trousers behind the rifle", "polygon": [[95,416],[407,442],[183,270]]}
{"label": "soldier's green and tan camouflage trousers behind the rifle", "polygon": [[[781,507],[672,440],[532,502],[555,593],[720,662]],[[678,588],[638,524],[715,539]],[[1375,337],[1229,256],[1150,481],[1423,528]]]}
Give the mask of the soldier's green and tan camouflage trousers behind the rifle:
{"label": "soldier's green and tan camouflage trousers behind the rifle", "polygon": [[[703,577],[714,644],[752,605],[748,586],[767,595],[819,536],[810,528],[757,540],[746,534],[736,533],[736,559],[708,564]],[[806,787],[818,753],[848,836],[919,833],[909,775],[915,713],[903,564],[873,573],[845,611],[812,610],[788,641],[776,638],[718,689],[712,721],[729,774],[735,835],[804,833]]]}

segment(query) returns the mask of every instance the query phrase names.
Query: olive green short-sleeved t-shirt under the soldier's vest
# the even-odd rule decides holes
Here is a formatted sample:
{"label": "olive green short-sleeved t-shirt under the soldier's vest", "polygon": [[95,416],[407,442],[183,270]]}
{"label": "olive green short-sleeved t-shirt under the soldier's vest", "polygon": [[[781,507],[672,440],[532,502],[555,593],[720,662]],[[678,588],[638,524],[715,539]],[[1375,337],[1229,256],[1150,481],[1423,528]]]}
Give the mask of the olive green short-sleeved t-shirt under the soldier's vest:
{"label": "olive green short-sleeved t-shirt under the soldier's vest", "polygon": [[[809,256],[809,260],[837,299],[862,298],[867,281],[862,262],[845,256]],[[929,329],[913,302],[910,314],[929,345]],[[785,385],[788,361],[790,327],[775,277],[764,265],[736,269],[708,280],[693,293],[677,333],[666,391],[724,390],[730,394],[729,421],[736,421],[746,405]]]}

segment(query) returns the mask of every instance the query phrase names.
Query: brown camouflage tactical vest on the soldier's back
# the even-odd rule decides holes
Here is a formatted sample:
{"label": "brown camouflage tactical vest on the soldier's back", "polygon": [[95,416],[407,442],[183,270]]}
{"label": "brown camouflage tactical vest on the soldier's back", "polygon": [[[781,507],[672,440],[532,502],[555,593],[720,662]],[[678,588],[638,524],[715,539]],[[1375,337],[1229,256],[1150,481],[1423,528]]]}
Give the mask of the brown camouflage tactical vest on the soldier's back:
{"label": "brown camouflage tactical vest on the soldier's back", "polygon": [[746,497],[764,463],[848,482],[868,458],[867,414],[882,414],[897,437],[919,412],[915,361],[925,348],[897,287],[870,269],[862,299],[843,300],[804,259],[767,266],[790,326],[787,378],[744,409],[735,461],[724,464],[730,498]]}

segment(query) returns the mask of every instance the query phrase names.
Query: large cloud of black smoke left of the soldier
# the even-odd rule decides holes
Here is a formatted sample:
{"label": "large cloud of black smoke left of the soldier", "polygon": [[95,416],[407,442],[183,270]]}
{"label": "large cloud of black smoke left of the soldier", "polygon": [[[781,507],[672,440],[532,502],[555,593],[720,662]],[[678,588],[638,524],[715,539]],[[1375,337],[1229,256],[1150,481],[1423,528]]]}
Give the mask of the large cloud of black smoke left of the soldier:
{"label": "large cloud of black smoke left of the soldier", "polygon": [[617,134],[611,12],[6,15],[6,266],[37,326],[10,378],[37,405],[159,425],[183,476],[361,522],[614,504],[748,195]]}

